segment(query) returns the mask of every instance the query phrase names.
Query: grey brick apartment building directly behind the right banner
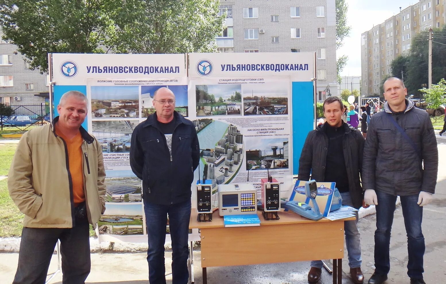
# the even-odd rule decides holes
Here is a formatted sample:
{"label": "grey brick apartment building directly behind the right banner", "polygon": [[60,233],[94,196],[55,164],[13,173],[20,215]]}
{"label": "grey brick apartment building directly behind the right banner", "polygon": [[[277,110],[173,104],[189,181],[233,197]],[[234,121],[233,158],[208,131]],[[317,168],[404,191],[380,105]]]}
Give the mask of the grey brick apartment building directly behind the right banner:
{"label": "grey brick apartment building directly behind the right banner", "polygon": [[338,95],[335,0],[220,0],[220,52],[316,52],[317,99]]}

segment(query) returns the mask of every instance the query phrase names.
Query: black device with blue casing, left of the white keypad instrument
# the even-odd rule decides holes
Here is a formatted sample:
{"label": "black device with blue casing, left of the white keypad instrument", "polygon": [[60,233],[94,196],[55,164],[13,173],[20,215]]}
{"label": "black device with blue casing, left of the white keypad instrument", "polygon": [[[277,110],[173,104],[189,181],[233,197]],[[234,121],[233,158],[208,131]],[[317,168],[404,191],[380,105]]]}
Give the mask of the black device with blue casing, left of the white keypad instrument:
{"label": "black device with blue casing, left of the white keypad instrument", "polygon": [[197,185],[197,222],[212,221],[212,180],[198,180]]}

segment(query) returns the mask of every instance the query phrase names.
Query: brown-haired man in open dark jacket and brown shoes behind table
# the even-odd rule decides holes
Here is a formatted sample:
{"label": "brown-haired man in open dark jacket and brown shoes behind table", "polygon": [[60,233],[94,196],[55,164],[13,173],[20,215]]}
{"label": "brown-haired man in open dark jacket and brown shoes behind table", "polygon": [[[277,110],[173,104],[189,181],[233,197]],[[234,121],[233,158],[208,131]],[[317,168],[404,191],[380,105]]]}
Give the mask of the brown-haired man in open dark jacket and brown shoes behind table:
{"label": "brown-haired man in open dark jacket and brown shoes behind table", "polygon": [[[336,182],[343,205],[358,209],[363,199],[359,173],[362,170],[364,137],[342,121],[344,107],[341,99],[330,97],[322,107],[327,121],[308,133],[299,160],[298,177],[308,181],[311,173],[311,178],[316,181]],[[355,221],[345,222],[344,231],[351,278],[355,283],[363,283],[358,214]],[[308,281],[318,282],[321,272],[322,261],[312,261]]]}

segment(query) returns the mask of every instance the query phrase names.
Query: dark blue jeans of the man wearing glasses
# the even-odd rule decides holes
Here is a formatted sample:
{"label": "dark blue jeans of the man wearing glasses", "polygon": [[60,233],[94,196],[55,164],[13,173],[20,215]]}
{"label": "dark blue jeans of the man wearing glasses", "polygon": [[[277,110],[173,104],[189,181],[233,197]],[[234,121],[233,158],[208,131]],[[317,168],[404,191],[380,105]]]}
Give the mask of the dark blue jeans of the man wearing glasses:
{"label": "dark blue jeans of the man wearing glasses", "polygon": [[145,222],[149,238],[147,262],[149,263],[149,283],[165,284],[164,243],[166,239],[167,215],[172,239],[172,284],[187,284],[189,270],[188,237],[190,200],[171,205],[154,204],[144,201]]}

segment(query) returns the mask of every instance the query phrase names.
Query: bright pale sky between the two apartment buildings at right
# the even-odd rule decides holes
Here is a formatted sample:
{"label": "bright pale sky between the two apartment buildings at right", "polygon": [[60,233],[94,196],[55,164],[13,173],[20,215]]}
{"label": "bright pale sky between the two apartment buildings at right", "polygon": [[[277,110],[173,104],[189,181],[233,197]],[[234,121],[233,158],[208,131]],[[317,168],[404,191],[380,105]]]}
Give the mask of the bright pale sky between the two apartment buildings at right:
{"label": "bright pale sky between the two apartment buildings at right", "polygon": [[348,4],[348,25],[350,37],[344,39],[344,45],[336,55],[347,54],[348,62],[341,76],[361,76],[361,34],[379,25],[393,15],[418,1],[409,0],[346,0]]}

